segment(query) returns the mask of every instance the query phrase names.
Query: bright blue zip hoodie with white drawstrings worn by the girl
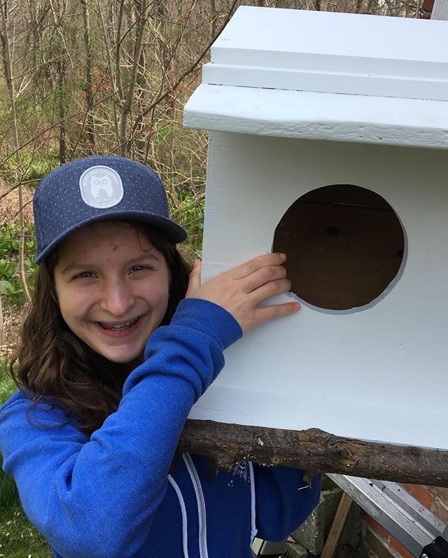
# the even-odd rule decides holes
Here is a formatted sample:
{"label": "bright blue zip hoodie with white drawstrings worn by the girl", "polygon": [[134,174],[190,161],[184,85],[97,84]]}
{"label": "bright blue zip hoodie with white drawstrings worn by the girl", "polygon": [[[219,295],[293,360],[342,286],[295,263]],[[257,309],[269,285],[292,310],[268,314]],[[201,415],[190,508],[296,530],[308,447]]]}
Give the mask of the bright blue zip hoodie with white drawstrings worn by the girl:
{"label": "bright blue zip hoodie with white drawstrings worn by the girl", "polygon": [[[319,479],[242,461],[207,480],[207,459],[176,445],[192,405],[241,328],[223,308],[183,300],[146,346],[123,399],[87,436],[59,405],[15,393],[0,410],[3,469],[57,558],[249,558],[258,536],[281,540],[318,501]],[[56,427],[56,428],[55,428]]]}

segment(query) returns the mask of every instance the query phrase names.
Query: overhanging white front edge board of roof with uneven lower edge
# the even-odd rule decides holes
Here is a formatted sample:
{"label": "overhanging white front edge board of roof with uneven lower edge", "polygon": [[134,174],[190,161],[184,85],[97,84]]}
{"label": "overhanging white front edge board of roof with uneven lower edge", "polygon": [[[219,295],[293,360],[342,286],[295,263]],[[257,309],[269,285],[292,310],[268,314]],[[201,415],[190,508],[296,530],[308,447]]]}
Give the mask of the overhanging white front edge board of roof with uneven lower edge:
{"label": "overhanging white front edge board of roof with uneven lower edge", "polygon": [[448,102],[200,85],[184,125],[199,130],[448,147]]}

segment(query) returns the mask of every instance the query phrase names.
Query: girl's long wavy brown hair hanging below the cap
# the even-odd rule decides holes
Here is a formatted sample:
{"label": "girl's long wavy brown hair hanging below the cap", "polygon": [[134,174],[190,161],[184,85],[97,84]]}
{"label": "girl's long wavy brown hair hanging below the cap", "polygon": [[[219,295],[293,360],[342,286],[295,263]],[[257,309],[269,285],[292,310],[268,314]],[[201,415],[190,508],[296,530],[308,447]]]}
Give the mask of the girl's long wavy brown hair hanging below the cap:
{"label": "girl's long wavy brown hair hanging below the cap", "polygon": [[[160,232],[144,230],[169,268],[169,302],[161,323],[166,325],[185,296],[190,265]],[[10,357],[9,372],[31,400],[29,408],[40,401],[62,403],[67,417],[74,417],[78,429],[90,435],[117,410],[129,367],[93,351],[66,326],[55,291],[57,257],[55,249],[38,267],[34,300]]]}

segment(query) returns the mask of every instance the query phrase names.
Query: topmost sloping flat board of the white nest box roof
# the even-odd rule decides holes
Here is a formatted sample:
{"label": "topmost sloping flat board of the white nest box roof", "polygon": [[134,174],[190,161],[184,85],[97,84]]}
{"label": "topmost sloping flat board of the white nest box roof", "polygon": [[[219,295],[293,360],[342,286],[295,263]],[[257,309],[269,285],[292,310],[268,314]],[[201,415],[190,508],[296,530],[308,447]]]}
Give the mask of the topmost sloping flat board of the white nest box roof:
{"label": "topmost sloping flat board of the white nest box roof", "polygon": [[[435,24],[435,25],[433,25]],[[286,67],[297,53],[448,62],[442,21],[240,6],[212,46],[214,62]],[[416,36],[419,40],[416,41]],[[401,41],[400,39],[407,39]],[[270,57],[272,53],[272,57]],[[295,62],[293,62],[295,66]]]}

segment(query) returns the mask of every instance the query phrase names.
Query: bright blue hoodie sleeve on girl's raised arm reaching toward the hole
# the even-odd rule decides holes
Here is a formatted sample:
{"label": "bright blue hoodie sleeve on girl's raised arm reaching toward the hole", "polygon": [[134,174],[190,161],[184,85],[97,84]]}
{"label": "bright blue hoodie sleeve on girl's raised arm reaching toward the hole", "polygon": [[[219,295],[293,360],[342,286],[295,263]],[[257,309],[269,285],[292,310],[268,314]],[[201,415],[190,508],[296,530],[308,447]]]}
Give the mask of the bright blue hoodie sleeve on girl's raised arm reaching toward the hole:
{"label": "bright blue hoodie sleeve on girl's raised arm reaching toward the hole", "polygon": [[[90,438],[59,407],[16,393],[0,410],[3,469],[23,508],[64,558],[127,558],[144,543],[190,408],[241,337],[223,308],[183,300],[158,328],[123,399]],[[55,428],[56,427],[56,428]],[[113,533],[113,536],[111,536]]]}

